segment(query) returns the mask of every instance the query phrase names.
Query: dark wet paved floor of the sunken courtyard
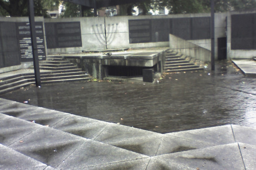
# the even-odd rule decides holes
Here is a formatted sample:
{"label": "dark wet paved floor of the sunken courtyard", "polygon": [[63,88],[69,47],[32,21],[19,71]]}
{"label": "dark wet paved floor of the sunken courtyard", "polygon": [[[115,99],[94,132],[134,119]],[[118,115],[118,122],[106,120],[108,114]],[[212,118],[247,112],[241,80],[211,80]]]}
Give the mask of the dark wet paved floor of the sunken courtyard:
{"label": "dark wet paved floor of the sunken courtyard", "polygon": [[159,84],[79,81],[29,86],[0,98],[160,133],[226,124],[256,128],[256,79],[225,61],[215,72],[165,74]]}

